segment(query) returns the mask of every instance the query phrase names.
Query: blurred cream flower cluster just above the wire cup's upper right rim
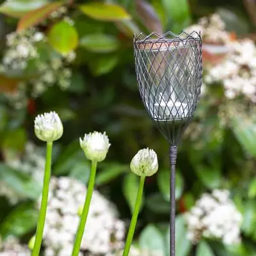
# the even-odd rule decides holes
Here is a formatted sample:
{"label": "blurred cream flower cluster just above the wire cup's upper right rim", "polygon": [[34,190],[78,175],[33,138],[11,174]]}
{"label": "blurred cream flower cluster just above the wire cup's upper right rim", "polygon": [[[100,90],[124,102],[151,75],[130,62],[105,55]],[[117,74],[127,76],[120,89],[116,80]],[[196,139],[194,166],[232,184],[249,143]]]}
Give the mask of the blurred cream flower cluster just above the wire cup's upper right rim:
{"label": "blurred cream flower cluster just above the wire cup's upper right rim", "polygon": [[217,13],[201,18],[198,24],[190,26],[186,31],[200,31],[202,40],[207,43],[227,44],[230,42],[230,33],[225,30],[225,23]]}

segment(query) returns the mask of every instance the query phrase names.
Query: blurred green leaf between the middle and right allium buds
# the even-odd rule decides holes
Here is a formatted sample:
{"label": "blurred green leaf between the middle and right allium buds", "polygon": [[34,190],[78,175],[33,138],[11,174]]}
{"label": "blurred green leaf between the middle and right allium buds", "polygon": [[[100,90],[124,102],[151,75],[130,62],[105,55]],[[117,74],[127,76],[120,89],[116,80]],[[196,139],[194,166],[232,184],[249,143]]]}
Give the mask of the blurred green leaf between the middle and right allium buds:
{"label": "blurred green leaf between the middle and right allium buds", "polygon": [[129,170],[129,166],[127,165],[118,163],[108,164],[101,172],[97,173],[96,184],[106,184],[116,179],[116,177],[120,176],[122,173],[127,172],[127,170]]}

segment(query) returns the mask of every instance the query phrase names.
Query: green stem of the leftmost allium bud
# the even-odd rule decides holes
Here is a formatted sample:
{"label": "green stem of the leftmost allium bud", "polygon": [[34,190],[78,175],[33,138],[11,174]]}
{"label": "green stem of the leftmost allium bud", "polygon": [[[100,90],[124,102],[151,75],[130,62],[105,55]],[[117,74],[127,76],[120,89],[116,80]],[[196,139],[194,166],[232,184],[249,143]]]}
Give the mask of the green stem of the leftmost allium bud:
{"label": "green stem of the leftmost allium bud", "polygon": [[52,141],[47,142],[47,147],[46,147],[44,186],[43,186],[41,209],[40,209],[38,224],[37,224],[37,228],[36,228],[36,238],[35,238],[35,244],[33,247],[32,256],[39,255],[40,247],[42,244],[45,215],[46,215],[46,210],[47,210],[49,183],[50,183],[50,179],[51,179],[51,161],[52,161]]}

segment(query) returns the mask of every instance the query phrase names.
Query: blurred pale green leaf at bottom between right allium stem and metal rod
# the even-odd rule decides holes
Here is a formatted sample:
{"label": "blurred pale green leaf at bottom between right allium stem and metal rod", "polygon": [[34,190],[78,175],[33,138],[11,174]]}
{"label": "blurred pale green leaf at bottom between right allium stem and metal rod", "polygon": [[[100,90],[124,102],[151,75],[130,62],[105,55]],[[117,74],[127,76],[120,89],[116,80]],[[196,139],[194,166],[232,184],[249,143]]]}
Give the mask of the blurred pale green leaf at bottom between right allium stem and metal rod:
{"label": "blurred pale green leaf at bottom between right allium stem and metal rod", "polygon": [[142,250],[160,254],[164,252],[164,237],[156,226],[149,224],[141,232],[139,245]]}

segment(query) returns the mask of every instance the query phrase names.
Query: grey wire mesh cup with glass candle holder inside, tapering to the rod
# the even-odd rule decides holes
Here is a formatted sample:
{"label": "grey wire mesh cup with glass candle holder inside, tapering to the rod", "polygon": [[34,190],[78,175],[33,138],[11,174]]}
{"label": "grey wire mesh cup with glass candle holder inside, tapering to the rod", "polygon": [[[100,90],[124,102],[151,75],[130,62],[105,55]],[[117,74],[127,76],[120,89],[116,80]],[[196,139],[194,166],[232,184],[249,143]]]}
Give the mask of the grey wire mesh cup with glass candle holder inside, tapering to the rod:
{"label": "grey wire mesh cup with glass candle holder inside, tapering to the rod", "polygon": [[134,56],[143,104],[166,139],[177,145],[200,95],[201,36],[196,31],[134,35]]}

